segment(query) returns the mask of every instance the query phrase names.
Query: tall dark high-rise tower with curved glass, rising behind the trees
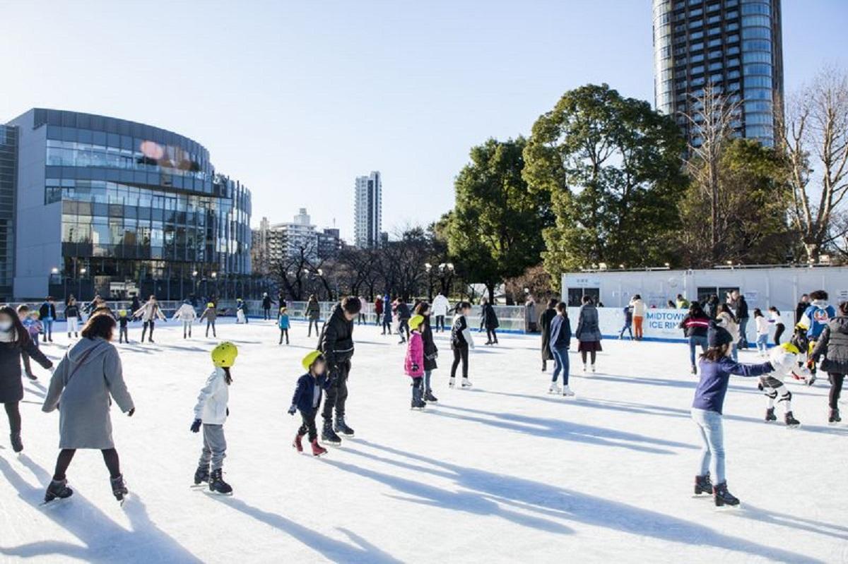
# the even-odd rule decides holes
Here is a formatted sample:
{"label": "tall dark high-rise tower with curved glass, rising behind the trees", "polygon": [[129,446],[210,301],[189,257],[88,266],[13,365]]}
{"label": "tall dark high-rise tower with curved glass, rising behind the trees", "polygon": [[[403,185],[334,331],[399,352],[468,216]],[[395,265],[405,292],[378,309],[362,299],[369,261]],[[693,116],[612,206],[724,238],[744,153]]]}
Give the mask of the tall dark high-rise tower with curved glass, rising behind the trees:
{"label": "tall dark high-rise tower with curved glass, rising behind the trees", "polygon": [[773,147],[784,91],[780,0],[654,0],[653,22],[656,108],[685,129],[680,114],[711,85],[739,104],[737,135]]}

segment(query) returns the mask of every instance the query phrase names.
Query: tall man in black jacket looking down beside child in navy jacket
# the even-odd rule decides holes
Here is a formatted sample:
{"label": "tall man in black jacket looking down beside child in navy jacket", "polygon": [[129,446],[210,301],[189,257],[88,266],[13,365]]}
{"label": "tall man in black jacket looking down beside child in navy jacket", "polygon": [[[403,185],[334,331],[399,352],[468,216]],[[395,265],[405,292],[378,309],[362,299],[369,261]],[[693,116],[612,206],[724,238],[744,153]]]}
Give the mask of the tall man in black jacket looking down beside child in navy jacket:
{"label": "tall man in black jacket looking down beside child in navy jacket", "polygon": [[[350,359],[354,356],[354,318],[360,312],[362,304],[359,298],[348,296],[332,310],[330,318],[321,329],[318,350],[324,354],[330,372],[330,387],[324,400],[324,427],[321,440],[331,445],[340,445],[342,440],[337,433],[354,436],[344,420],[344,405],[348,400],[348,375]],[[336,412],[336,424],[332,424],[332,413]]]}

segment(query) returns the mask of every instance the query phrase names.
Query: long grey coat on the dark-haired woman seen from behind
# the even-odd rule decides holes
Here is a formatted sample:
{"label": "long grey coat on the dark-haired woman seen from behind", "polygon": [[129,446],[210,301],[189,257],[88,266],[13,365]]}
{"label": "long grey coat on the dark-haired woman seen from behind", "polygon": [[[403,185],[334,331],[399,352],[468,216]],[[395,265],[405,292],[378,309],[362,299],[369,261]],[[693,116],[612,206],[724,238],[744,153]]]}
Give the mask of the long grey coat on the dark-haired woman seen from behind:
{"label": "long grey coat on the dark-haired woman seen from behind", "polygon": [[118,351],[108,340],[83,337],[56,367],[42,406],[43,412],[59,407],[59,448],[114,448],[113,399],[121,412],[134,408]]}

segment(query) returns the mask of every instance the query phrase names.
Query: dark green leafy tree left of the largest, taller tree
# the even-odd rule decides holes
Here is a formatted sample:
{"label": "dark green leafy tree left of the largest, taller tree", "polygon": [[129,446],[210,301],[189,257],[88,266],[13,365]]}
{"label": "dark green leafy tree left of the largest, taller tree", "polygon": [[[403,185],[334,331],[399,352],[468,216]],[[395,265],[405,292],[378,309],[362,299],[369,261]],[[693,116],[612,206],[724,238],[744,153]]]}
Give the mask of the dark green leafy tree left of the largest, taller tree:
{"label": "dark green leafy tree left of the largest, taller tree", "polygon": [[542,230],[552,222],[550,198],[529,191],[522,175],[527,141],[489,139],[471,148],[471,163],[455,180],[448,249],[460,276],[486,285],[489,298],[504,279],[538,264]]}

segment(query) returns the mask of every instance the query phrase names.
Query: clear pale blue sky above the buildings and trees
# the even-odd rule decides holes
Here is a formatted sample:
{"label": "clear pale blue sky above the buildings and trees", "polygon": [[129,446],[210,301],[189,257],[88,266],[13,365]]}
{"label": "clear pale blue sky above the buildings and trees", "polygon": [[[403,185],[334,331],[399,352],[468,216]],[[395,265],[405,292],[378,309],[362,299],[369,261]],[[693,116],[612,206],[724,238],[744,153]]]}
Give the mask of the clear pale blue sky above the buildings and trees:
{"label": "clear pale blue sky above the buildings and trees", "polygon": [[[788,90],[846,64],[848,1],[784,0]],[[385,229],[453,207],[468,149],[527,134],[561,94],[653,101],[650,0],[0,0],[0,121],[32,107],[188,135],[254,194],[353,230],[383,174]]]}

